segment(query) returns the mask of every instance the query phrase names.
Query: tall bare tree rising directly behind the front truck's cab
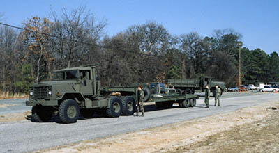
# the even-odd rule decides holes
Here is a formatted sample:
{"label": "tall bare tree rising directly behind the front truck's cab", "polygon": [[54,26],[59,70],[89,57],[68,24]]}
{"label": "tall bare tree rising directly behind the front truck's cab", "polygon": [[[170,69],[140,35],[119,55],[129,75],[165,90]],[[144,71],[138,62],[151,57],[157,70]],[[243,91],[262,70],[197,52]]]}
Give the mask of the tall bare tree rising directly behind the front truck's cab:
{"label": "tall bare tree rising directly behind the front truck's cab", "polygon": [[91,13],[86,11],[85,7],[70,12],[63,8],[61,15],[52,11],[51,18],[54,20],[52,34],[60,37],[53,39],[52,48],[58,53],[56,58],[66,61],[68,67],[74,60],[80,60],[84,54],[88,53],[92,47],[88,44],[95,45],[100,41],[107,26],[105,19],[97,21]]}

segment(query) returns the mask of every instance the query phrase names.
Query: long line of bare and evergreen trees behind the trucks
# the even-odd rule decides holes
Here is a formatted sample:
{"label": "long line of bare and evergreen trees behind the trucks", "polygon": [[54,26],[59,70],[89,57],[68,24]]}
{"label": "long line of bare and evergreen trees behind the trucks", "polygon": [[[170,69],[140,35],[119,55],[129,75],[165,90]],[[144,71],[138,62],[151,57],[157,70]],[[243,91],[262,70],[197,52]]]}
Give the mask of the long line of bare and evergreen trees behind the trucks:
{"label": "long line of bare and evergreen trees behind the trucks", "polygon": [[[232,29],[211,36],[190,32],[172,35],[162,24],[129,26],[113,36],[107,21],[84,7],[48,17],[30,17],[22,29],[0,26],[0,90],[28,92],[31,84],[49,81],[52,71],[95,64],[103,86],[166,82],[167,79],[211,76],[238,84],[241,34]],[[274,51],[241,46],[241,81],[279,81],[279,56]]]}

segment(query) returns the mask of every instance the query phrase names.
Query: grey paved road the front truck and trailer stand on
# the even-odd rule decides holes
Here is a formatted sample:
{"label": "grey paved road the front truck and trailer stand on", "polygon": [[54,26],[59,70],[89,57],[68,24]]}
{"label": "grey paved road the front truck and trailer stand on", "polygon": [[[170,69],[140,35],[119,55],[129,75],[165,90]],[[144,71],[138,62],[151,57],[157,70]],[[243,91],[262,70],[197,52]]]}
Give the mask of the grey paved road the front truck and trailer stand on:
{"label": "grey paved road the front truck and trailer stand on", "polygon": [[[237,97],[235,97],[236,95]],[[227,113],[265,102],[276,102],[278,99],[279,93],[243,94],[228,92],[221,98],[220,107],[212,106],[214,99],[211,98],[210,108],[205,109],[204,98],[201,97],[197,100],[195,108],[174,106],[174,108],[158,110],[154,105],[145,106],[146,117],[144,118],[133,116],[93,118],[78,120],[75,124],[61,124],[57,118],[53,118],[47,123],[35,123],[29,120],[0,123],[0,152],[31,152],[82,140]]]}

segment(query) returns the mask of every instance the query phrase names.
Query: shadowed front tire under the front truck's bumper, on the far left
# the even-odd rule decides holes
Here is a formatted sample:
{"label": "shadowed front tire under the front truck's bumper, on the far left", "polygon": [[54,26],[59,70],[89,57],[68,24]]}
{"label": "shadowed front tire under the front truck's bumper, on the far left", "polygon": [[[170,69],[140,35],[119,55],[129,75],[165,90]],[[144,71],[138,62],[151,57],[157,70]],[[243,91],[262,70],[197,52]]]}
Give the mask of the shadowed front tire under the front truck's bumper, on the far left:
{"label": "shadowed front tire under the front truck's bumper, on the far left", "polygon": [[52,118],[53,110],[44,106],[32,107],[32,122],[47,122]]}

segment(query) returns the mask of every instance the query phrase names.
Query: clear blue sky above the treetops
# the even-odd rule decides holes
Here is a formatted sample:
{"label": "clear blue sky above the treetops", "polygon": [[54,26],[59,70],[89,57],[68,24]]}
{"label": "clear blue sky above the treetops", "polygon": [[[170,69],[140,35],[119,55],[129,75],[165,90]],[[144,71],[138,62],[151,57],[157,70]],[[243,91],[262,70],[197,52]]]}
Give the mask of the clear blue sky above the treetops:
{"label": "clear blue sky above the treetops", "polygon": [[106,19],[110,36],[150,21],[177,36],[197,32],[204,37],[217,29],[234,29],[243,36],[243,47],[279,54],[278,0],[3,0],[0,20],[21,26],[30,17],[47,17],[51,9],[61,13],[61,8],[80,6]]}

